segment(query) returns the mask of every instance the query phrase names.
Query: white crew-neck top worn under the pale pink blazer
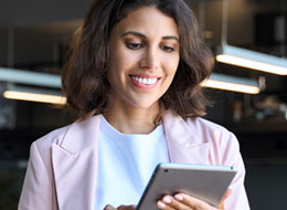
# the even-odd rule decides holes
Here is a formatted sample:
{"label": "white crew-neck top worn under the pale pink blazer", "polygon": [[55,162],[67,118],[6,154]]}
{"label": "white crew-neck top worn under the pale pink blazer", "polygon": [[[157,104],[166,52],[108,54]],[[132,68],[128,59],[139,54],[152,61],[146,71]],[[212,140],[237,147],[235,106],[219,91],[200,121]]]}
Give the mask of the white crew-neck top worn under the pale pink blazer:
{"label": "white crew-neck top worn under the pale pink blazer", "polygon": [[137,204],[156,166],[168,161],[162,125],[147,135],[127,135],[102,116],[95,210],[106,204]]}

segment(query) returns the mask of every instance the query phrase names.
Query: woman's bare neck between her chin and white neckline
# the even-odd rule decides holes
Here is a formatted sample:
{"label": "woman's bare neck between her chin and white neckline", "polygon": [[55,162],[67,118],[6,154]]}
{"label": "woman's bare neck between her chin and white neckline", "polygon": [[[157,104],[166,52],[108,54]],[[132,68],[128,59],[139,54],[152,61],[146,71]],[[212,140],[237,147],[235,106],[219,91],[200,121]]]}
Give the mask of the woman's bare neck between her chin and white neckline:
{"label": "woman's bare neck between her chin and white neckline", "polygon": [[159,115],[159,104],[148,108],[127,106],[113,106],[104,116],[110,125],[123,134],[149,134],[155,126],[155,119]]}

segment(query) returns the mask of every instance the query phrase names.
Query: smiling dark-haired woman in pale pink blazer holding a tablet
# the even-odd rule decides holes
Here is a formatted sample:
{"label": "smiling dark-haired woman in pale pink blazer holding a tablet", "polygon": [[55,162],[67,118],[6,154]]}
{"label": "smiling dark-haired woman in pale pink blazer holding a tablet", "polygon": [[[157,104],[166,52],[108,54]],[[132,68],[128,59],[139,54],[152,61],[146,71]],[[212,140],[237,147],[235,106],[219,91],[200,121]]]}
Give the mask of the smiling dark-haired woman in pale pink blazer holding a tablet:
{"label": "smiling dark-haired woman in pale pink blazer holding a tablet", "polygon": [[94,0],[63,73],[79,120],[32,144],[19,209],[135,209],[162,161],[238,172],[220,207],[179,193],[159,209],[248,209],[236,138],[200,117],[213,57],[198,33],[183,0]]}

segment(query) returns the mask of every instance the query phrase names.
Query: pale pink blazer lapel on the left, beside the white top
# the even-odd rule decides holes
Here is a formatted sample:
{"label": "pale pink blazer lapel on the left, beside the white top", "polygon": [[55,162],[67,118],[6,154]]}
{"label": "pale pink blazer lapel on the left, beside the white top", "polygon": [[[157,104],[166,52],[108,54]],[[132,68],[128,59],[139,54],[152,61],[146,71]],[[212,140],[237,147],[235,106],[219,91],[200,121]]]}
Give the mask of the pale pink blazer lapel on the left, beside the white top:
{"label": "pale pink blazer lapel on the left, beside the white top", "polygon": [[60,210],[94,209],[99,116],[72,124],[52,146],[52,165]]}

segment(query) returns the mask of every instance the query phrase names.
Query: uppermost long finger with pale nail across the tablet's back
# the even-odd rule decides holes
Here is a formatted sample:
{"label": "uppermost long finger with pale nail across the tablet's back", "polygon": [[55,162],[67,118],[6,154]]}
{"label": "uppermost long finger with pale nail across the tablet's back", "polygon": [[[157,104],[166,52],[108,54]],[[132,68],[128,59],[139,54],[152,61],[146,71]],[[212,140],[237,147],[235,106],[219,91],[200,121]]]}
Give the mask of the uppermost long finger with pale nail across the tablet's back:
{"label": "uppermost long finger with pale nail across the tablet's back", "polygon": [[174,199],[177,199],[182,204],[188,206],[188,209],[215,210],[215,208],[209,203],[185,193],[178,193],[174,196]]}

